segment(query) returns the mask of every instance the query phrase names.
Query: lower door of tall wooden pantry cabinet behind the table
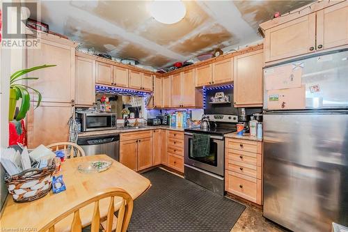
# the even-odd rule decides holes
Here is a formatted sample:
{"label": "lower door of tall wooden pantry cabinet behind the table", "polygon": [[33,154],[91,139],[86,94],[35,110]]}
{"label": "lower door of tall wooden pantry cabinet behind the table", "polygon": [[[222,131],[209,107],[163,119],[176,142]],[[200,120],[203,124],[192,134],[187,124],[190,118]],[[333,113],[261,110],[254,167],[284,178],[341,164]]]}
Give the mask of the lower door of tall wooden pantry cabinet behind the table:
{"label": "lower door of tall wooden pantry cabinet behind the table", "polygon": [[26,116],[28,148],[35,148],[40,144],[47,146],[68,141],[68,121],[74,111],[72,104],[41,102],[37,109],[35,109],[35,104],[35,102],[31,102],[31,107]]}

